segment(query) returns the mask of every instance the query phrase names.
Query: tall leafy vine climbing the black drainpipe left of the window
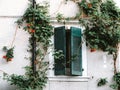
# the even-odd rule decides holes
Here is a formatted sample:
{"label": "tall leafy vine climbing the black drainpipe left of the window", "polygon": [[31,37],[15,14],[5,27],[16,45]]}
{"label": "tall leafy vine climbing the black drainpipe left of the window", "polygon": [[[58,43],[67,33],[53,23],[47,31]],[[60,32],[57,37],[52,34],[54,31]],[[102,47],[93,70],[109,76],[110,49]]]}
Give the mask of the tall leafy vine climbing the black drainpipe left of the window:
{"label": "tall leafy vine climbing the black drainpipe left of the window", "polygon": [[[35,4],[33,7],[30,2],[23,17],[16,23],[19,27],[23,27],[25,31],[30,34],[29,38],[29,52],[32,52],[33,40],[35,45],[35,65],[34,72],[31,67],[26,67],[25,75],[5,75],[4,79],[10,82],[11,85],[16,85],[18,90],[43,90],[47,83],[47,70],[49,63],[44,61],[48,54],[48,47],[51,46],[51,36],[53,35],[52,26],[50,25],[50,18],[47,14],[48,4]],[[34,38],[33,38],[34,37]],[[32,61],[32,57],[30,57]]]}

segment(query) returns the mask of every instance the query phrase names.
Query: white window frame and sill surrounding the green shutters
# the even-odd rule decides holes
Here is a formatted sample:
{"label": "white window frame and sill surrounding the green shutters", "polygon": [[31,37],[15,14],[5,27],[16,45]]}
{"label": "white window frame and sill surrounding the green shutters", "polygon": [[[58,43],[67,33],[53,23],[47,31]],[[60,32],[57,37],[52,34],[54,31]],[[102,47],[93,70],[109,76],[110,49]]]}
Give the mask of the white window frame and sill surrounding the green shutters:
{"label": "white window frame and sill surrounding the green shutters", "polygon": [[[55,25],[55,27],[60,27],[63,25]],[[65,27],[66,29],[70,29],[70,27],[78,27],[81,28],[81,32],[83,33],[84,27],[81,27],[80,25],[67,25],[67,27]],[[52,40],[52,44],[54,43],[54,36],[51,37]],[[53,51],[54,48],[54,44],[53,47],[49,48],[49,51]],[[54,56],[52,55],[52,53],[49,54],[49,71],[48,71],[48,79],[51,80],[55,80],[55,81],[88,81],[88,79],[90,78],[87,74],[87,67],[88,67],[88,63],[87,63],[87,47],[86,47],[86,42],[85,40],[83,40],[82,37],[82,68],[84,69],[82,72],[82,76],[66,76],[66,75],[58,75],[56,76],[54,74]]]}

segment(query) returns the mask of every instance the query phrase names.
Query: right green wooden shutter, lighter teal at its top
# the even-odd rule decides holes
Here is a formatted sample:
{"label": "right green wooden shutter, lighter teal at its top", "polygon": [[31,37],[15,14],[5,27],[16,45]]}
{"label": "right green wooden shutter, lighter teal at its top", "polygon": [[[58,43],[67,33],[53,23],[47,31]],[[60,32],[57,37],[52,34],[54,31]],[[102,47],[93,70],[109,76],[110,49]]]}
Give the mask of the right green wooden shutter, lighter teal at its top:
{"label": "right green wooden shutter, lighter teal at its top", "polygon": [[82,75],[81,29],[71,27],[71,75]]}

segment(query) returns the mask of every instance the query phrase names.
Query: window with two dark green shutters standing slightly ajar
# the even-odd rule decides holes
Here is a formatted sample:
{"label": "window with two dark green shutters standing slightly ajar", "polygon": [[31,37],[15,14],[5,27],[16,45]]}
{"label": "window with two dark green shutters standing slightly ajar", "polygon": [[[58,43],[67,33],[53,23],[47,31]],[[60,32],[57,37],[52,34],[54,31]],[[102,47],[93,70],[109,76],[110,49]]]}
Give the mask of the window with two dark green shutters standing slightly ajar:
{"label": "window with two dark green shutters standing slightly ajar", "polygon": [[55,75],[82,75],[81,29],[65,27],[54,29],[55,50],[62,50],[64,58],[55,60]]}

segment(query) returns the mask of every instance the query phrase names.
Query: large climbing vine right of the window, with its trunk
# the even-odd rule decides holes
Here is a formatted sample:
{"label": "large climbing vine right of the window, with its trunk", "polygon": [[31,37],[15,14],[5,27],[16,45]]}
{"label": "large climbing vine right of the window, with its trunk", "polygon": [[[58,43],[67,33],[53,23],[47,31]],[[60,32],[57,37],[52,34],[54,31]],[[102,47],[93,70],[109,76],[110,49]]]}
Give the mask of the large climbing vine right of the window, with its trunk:
{"label": "large climbing vine right of the window, with its trunk", "polygon": [[[72,1],[79,7],[79,13],[75,18],[79,20],[80,25],[85,27],[83,37],[87,46],[91,52],[102,50],[113,56],[115,77],[119,74],[116,61],[120,43],[120,9],[113,0]],[[114,81],[117,81],[116,87],[120,89],[118,80]]]}

